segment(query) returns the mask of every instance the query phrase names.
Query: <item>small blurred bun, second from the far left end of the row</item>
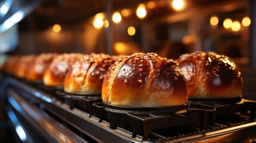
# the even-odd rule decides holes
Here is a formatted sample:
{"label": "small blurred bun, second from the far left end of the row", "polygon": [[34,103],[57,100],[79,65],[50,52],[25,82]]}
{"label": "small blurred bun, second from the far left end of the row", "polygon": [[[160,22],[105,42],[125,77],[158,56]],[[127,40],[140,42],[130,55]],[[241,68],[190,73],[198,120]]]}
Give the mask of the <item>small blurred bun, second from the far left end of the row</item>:
{"label": "small blurred bun, second from the far left end of the row", "polygon": [[17,63],[17,69],[14,71],[14,75],[20,78],[24,78],[27,74],[27,69],[30,64],[35,60],[36,55],[23,55]]}

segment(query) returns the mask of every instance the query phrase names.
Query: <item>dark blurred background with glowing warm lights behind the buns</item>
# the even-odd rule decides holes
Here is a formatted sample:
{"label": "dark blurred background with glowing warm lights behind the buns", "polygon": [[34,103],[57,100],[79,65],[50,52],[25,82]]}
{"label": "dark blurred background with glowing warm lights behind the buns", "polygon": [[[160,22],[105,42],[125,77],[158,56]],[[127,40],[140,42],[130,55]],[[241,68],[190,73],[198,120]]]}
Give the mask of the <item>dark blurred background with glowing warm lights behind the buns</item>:
{"label": "dark blurred background with glowing warm lights behind the buns", "polygon": [[175,60],[213,51],[235,61],[243,94],[255,97],[255,8],[253,0],[0,0],[0,61],[42,52],[156,52]]}

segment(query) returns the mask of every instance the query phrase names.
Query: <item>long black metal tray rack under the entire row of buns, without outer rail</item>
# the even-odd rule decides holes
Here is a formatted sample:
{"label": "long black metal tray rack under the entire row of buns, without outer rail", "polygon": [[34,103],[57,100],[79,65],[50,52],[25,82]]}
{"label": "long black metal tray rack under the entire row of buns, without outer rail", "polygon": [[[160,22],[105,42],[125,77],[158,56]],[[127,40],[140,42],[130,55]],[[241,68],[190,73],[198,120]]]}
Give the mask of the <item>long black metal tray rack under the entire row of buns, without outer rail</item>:
{"label": "long black metal tray rack under the entire row of buns, without outer rail", "polygon": [[[129,139],[132,139],[132,141],[137,141],[140,138],[142,138],[141,141],[149,142],[158,142],[150,140],[156,138],[159,138],[160,142],[192,141],[192,139],[196,141],[196,139],[199,139],[198,136],[201,136],[200,139],[202,139],[202,136],[204,136],[203,138],[210,138],[212,135],[225,133],[221,132],[221,130],[225,130],[226,128],[229,129],[228,132],[235,132],[235,130],[245,127],[242,125],[248,124],[251,126],[249,123],[255,122],[256,102],[244,99],[239,102],[223,102],[222,104],[220,102],[189,102],[184,110],[171,110],[170,108],[171,112],[164,112],[164,114],[162,112],[159,112],[159,114],[158,112],[152,111],[143,113],[143,110],[139,108],[133,110],[133,108],[129,109],[129,107],[128,110],[119,111],[123,107],[113,108],[107,104],[103,104],[101,99],[100,101],[92,100],[91,98],[85,99],[81,95],[69,95],[66,98],[66,94],[63,94],[63,91],[61,91],[62,95],[60,95],[64,99],[61,101],[61,104],[58,104],[60,102],[58,99],[56,101],[42,101],[45,99],[45,91],[41,93],[41,89],[30,88],[30,86],[16,82],[15,80],[8,80],[8,82],[13,86],[11,89],[15,89],[22,96],[28,96],[30,98],[27,99],[30,100],[35,99],[32,102],[38,101],[38,104],[45,104],[48,110],[54,111],[54,114],[62,120],[68,121],[71,126],[75,126],[75,128],[82,132],[97,136],[101,141],[104,141],[107,137],[104,136],[104,138],[101,138],[98,132],[104,132],[106,130],[108,131],[104,133],[110,133],[109,136],[116,136],[117,138],[124,138],[124,136],[125,138],[127,136],[129,138],[129,135],[131,135]],[[19,90],[22,90],[24,93],[19,92]],[[38,95],[39,93],[41,94]],[[46,95],[55,97],[54,94]],[[88,108],[83,110],[80,107],[75,107],[76,100],[87,102],[83,103],[82,107],[84,107],[84,104],[88,104]],[[91,122],[95,119],[98,123],[93,122],[92,124],[94,126],[91,126]],[[90,128],[88,127],[88,123],[90,124]],[[103,130],[98,130],[98,132],[92,130],[99,128],[103,128]],[[192,128],[192,131],[187,132],[186,130],[190,128]],[[216,130],[220,131],[215,132]]]}

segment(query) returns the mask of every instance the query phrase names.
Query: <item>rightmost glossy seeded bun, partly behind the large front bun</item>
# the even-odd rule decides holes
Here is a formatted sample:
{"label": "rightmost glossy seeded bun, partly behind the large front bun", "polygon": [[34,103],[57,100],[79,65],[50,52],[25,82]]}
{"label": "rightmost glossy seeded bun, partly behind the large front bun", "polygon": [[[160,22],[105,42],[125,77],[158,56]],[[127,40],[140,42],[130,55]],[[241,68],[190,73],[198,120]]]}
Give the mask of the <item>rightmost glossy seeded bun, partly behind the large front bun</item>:
{"label": "rightmost glossy seeded bun, partly behind the large front bun", "polygon": [[177,63],[186,77],[189,97],[235,98],[242,95],[243,79],[229,57],[197,51],[181,55]]}

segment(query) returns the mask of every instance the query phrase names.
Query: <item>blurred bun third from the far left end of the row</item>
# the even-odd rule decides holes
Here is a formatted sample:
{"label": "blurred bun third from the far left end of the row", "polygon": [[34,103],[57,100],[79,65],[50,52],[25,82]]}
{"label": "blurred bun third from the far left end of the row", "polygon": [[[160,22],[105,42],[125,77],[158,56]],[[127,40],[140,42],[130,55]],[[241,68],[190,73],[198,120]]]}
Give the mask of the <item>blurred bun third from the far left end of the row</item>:
{"label": "blurred bun third from the far left end of the row", "polygon": [[42,80],[43,73],[53,58],[57,57],[56,53],[43,53],[35,58],[32,64],[27,69],[26,79],[30,81]]}

